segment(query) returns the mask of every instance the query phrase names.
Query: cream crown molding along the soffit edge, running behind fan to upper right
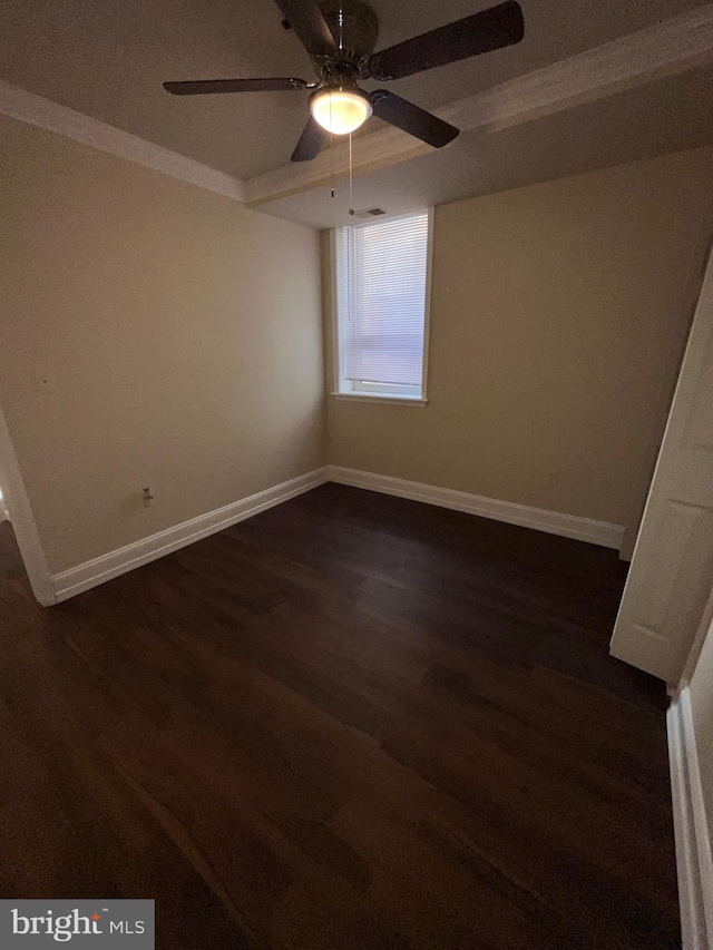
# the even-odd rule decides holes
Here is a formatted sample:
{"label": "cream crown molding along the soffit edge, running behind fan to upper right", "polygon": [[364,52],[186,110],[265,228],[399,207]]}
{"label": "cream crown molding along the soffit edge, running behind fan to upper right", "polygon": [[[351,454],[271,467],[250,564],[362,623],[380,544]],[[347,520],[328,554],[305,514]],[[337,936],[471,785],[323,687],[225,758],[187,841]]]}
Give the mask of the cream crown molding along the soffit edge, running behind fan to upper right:
{"label": "cream crown molding along the soffit edge, running behind fan to upper right", "polygon": [[[536,69],[525,76],[434,109],[461,130],[497,130],[572,109],[713,61],[713,3]],[[450,147],[457,147],[458,140]],[[368,174],[432,151],[394,128],[353,140],[353,167]],[[333,163],[333,165],[332,165]],[[332,170],[333,169],[333,170]],[[245,183],[258,206],[344,178],[349,147],[307,164],[289,164]]]}

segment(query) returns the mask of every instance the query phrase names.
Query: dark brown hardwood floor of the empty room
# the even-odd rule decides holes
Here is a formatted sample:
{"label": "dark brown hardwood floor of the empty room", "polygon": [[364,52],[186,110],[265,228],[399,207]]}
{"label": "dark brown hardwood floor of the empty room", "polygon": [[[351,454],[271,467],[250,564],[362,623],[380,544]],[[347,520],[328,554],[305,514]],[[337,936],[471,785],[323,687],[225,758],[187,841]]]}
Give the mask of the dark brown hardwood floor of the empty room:
{"label": "dark brown hardwood floor of the empty room", "polygon": [[157,947],[678,948],[614,551],[334,484],[50,609],[0,526],[0,890]]}

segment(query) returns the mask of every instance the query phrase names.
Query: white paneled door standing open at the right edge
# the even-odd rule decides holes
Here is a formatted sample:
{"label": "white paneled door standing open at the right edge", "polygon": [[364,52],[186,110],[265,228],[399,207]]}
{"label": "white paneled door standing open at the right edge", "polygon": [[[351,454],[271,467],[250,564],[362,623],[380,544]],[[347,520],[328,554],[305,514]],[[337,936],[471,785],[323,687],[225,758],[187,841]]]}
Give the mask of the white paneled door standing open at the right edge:
{"label": "white paneled door standing open at the right edge", "polygon": [[696,307],[612,654],[677,683],[713,585],[713,254]]}

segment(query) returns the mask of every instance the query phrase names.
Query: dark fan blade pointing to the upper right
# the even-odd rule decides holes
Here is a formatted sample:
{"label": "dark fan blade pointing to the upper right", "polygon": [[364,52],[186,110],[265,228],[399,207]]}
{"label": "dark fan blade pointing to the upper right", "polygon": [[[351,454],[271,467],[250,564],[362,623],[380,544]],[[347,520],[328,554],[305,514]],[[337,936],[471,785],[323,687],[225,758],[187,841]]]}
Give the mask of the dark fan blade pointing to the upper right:
{"label": "dark fan blade pointing to the upper right", "polygon": [[457,62],[519,42],[525,35],[522,10],[507,0],[489,10],[382,49],[369,61],[374,79],[385,82],[437,66]]}

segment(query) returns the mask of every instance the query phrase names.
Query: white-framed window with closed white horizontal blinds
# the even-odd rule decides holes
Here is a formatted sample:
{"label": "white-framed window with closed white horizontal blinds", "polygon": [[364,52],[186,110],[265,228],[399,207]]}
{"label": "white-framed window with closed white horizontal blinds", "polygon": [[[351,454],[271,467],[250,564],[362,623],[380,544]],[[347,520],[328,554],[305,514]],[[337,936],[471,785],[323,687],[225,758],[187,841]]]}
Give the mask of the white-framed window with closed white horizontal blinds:
{"label": "white-framed window with closed white horizontal blinds", "polygon": [[431,219],[334,232],[335,395],[426,402]]}

